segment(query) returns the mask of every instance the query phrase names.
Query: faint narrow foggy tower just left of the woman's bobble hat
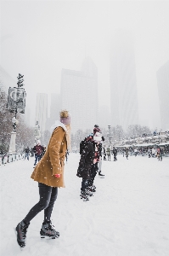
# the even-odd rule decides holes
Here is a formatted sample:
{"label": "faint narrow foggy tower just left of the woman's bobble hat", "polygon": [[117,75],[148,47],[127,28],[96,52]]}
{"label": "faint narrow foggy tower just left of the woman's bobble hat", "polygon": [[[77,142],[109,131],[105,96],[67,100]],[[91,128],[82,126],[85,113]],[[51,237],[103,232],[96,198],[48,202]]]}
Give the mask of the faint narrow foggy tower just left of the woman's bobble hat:
{"label": "faint narrow foggy tower just left of the woman's bobble hat", "polygon": [[55,120],[59,120],[60,110],[60,95],[53,93],[51,94],[50,117],[46,121],[46,130],[50,131],[50,127],[54,125]]}

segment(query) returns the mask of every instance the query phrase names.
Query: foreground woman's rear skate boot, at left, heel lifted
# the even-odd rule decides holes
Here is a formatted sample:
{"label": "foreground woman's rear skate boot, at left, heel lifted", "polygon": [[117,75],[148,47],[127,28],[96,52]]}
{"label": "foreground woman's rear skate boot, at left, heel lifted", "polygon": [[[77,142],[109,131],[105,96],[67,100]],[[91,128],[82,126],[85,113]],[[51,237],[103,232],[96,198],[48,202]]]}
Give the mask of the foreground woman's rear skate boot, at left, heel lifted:
{"label": "foreground woman's rear skate boot, at left, heel lifted", "polygon": [[17,241],[20,247],[25,247],[25,238],[26,238],[26,232],[27,228],[29,227],[29,224],[26,224],[24,220],[22,220],[17,226],[16,226],[16,235],[17,235]]}

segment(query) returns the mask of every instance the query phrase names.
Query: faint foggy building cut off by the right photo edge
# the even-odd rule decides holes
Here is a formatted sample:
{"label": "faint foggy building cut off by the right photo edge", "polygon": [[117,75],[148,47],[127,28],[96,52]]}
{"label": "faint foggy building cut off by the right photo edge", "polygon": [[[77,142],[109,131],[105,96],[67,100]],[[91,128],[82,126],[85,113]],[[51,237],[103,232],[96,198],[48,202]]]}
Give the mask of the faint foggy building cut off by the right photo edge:
{"label": "faint foggy building cut off by the right photo edge", "polygon": [[169,129],[169,61],[167,61],[156,73],[157,86],[160,101],[161,128]]}

